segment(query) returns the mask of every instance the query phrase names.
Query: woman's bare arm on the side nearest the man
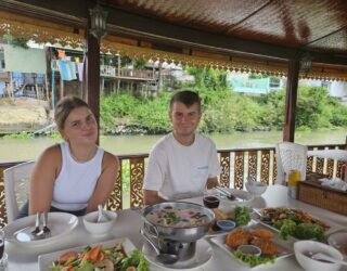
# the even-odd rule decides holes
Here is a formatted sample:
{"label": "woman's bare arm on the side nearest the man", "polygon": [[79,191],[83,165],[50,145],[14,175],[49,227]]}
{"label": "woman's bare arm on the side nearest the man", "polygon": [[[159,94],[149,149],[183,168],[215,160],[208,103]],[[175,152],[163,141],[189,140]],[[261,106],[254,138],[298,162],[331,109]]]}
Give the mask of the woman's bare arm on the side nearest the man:
{"label": "woman's bare arm on the side nearest the man", "polygon": [[104,205],[107,202],[111,192],[114,190],[118,172],[118,158],[111,153],[104,152],[101,176],[88,203],[87,212],[97,210],[99,204]]}

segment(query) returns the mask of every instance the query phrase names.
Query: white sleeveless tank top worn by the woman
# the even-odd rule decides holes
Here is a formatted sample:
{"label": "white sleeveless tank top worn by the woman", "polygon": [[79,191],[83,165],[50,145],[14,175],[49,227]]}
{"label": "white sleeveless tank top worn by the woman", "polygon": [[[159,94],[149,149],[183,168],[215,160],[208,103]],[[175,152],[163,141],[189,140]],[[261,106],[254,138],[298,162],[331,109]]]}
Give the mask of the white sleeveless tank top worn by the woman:
{"label": "white sleeveless tank top worn by the woman", "polygon": [[80,210],[87,207],[101,175],[104,151],[98,147],[97,154],[88,162],[76,162],[67,142],[60,144],[62,168],[54,181],[52,206],[63,210]]}

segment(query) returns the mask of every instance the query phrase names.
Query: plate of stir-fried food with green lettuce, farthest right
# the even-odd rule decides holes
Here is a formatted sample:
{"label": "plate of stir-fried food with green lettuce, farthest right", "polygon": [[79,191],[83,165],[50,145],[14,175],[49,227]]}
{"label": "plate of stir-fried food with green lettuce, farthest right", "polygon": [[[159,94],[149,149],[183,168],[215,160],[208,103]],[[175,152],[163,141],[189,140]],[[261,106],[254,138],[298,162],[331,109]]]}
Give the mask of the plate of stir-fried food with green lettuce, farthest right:
{"label": "plate of stir-fried food with green lettuce, farthest right", "polygon": [[296,240],[324,241],[325,231],[330,229],[323,221],[294,208],[262,208],[256,211],[259,214],[258,221],[278,231],[283,240],[292,236]]}

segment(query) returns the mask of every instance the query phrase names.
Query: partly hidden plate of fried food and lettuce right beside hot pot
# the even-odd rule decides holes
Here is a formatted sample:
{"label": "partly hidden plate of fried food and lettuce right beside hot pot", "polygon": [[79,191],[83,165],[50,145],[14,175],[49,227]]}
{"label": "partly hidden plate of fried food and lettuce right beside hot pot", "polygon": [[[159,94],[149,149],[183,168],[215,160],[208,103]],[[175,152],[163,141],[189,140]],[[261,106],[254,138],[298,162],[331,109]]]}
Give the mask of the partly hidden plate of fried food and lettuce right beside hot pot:
{"label": "partly hidden plate of fried food and lettuce right beside hot pot", "polygon": [[231,220],[235,222],[235,227],[246,225],[250,222],[250,210],[246,206],[234,206],[231,211],[223,211],[219,208],[213,209],[215,212],[215,220],[210,223],[208,232],[205,236],[211,237],[220,234],[226,234],[226,231],[218,225],[218,221]]}

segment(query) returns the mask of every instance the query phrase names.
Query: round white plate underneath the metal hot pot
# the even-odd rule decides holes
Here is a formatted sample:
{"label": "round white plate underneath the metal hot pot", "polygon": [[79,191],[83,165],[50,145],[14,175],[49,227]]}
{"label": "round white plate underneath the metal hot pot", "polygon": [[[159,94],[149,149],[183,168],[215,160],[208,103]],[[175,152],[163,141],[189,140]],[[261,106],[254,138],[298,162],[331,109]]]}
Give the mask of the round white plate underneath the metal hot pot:
{"label": "round white plate underneath the metal hot pot", "polygon": [[155,250],[147,242],[144,243],[142,251],[146,260],[153,266],[159,267],[159,270],[192,270],[206,264],[214,255],[210,244],[205,240],[198,240],[196,242],[196,251],[194,257],[189,260],[178,261],[170,266],[165,266],[155,259]]}

